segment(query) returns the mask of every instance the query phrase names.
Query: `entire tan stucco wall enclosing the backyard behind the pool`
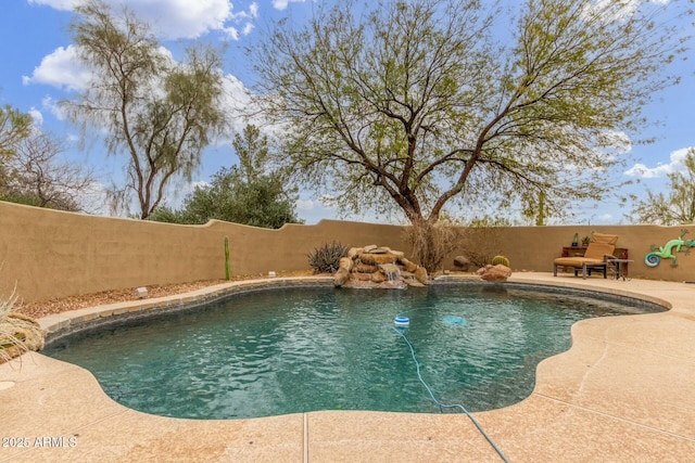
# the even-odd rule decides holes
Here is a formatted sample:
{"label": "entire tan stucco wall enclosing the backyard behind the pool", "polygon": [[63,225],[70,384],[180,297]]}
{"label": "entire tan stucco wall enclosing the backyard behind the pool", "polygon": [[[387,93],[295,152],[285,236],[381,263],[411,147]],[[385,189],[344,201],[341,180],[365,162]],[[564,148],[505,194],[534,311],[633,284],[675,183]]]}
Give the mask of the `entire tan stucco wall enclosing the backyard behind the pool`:
{"label": "entire tan stucco wall enclosing the backyard behind the pool", "polygon": [[[685,227],[687,228],[687,227]],[[630,275],[642,279],[695,280],[695,250],[679,253],[679,266],[664,259],[656,268],[644,263],[652,244],[679,236],[682,227],[567,226],[491,229],[485,246],[509,257],[515,271],[545,271],[563,246],[592,231],[620,235],[630,249]],[[0,202],[0,295],[16,283],[29,303],[105,290],[225,278],[224,239],[229,236],[232,274],[308,270],[306,255],[333,240],[353,246],[378,244],[409,254],[404,228],[324,220],[315,226],[287,224],[266,230],[220,221],[205,226],[174,226],[131,219],[96,217]],[[686,239],[695,239],[695,227]],[[470,243],[445,260],[465,255]]]}

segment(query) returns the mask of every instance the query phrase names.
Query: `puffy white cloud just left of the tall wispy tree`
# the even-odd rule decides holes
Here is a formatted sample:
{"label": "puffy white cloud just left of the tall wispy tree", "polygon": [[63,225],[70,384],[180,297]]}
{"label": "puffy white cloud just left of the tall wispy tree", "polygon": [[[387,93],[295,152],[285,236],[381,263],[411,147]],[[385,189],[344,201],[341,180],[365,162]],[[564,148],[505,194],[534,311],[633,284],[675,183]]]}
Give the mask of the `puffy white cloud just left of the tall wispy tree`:
{"label": "puffy white cloud just left of the tall wispy tree", "polygon": [[59,47],[53,53],[43,56],[41,64],[34,68],[31,77],[22,76],[22,82],[45,83],[59,89],[83,90],[91,78],[91,73],[83,66],[77,57],[77,48]]}

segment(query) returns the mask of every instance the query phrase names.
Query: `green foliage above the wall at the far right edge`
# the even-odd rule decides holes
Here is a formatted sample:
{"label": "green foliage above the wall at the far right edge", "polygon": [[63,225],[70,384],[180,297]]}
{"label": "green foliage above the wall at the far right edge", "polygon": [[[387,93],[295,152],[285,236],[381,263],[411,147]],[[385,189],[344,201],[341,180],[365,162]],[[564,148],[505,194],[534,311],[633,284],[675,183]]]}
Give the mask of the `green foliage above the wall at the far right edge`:
{"label": "green foliage above the wall at the far right edge", "polygon": [[634,221],[661,226],[695,223],[695,149],[688,151],[684,164],[685,173],[668,175],[668,195],[647,190],[647,198],[632,209]]}

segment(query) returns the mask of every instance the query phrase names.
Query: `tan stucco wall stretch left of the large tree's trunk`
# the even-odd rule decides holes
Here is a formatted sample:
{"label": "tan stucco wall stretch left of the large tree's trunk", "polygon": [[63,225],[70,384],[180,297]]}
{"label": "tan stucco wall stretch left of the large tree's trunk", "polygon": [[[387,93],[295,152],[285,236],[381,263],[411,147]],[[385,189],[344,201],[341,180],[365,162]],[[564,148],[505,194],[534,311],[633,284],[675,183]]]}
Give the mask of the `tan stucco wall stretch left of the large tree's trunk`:
{"label": "tan stucco wall stretch left of the large tree's trunk", "polygon": [[404,248],[403,228],[323,221],[280,230],[220,221],[205,226],[86,216],[0,202],[0,294],[15,282],[25,301],[105,290],[309,269],[324,242]]}

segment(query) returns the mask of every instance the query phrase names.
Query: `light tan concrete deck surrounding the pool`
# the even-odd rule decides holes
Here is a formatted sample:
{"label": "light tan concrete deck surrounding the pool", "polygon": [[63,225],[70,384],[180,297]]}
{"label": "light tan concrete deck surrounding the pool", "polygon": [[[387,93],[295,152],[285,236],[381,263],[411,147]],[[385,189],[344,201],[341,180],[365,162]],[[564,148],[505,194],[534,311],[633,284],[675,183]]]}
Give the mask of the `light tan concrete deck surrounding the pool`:
{"label": "light tan concrete deck surrounding the pool", "polygon": [[[693,460],[695,284],[532,272],[509,281],[643,295],[672,307],[576,323],[571,349],[539,364],[531,396],[475,413],[510,462]],[[77,310],[41,323],[58,326],[71,317],[113,316],[134,307]],[[88,371],[40,353],[0,365],[0,462],[501,461],[464,414],[321,411],[236,421],[167,419],[114,402]]]}

